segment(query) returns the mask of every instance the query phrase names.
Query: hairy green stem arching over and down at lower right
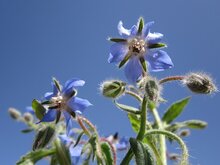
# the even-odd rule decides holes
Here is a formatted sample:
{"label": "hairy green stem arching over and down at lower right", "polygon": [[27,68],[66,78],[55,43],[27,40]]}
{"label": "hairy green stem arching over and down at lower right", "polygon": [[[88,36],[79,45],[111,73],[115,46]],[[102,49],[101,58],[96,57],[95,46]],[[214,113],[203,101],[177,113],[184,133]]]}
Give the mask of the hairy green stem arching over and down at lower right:
{"label": "hairy green stem arching over and down at lower right", "polygon": [[183,152],[180,165],[187,165],[188,164],[188,156],[189,156],[188,149],[187,149],[185,143],[183,142],[183,140],[179,136],[177,136],[176,134],[174,134],[172,132],[166,131],[166,130],[153,129],[153,130],[149,130],[145,134],[145,137],[152,135],[152,134],[162,134],[162,135],[168,136],[171,139],[176,140],[179,143],[179,145],[182,149],[182,152]]}

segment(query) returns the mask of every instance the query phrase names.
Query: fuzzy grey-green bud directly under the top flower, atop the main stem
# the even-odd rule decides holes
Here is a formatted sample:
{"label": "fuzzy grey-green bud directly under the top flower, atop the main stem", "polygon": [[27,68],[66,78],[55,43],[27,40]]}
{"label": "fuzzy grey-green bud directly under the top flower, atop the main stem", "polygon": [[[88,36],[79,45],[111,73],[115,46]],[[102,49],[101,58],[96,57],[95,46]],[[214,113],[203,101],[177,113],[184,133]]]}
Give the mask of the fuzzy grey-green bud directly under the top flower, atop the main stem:
{"label": "fuzzy grey-green bud directly under the top flower, atop the main stem", "polygon": [[160,91],[161,87],[158,83],[158,81],[155,78],[152,77],[144,77],[139,82],[139,87],[144,90],[146,96],[148,96],[148,99],[154,102],[157,102],[160,98]]}

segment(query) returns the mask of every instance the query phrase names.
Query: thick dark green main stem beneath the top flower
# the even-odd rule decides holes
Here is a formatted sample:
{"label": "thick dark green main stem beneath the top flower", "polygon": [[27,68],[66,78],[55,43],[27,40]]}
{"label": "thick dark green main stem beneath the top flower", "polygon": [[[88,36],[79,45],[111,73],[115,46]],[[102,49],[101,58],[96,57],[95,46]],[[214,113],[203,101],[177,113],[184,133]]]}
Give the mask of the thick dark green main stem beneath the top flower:
{"label": "thick dark green main stem beneath the top flower", "polygon": [[[137,140],[143,140],[146,130],[146,118],[147,118],[147,97],[143,98],[142,106],[141,106],[141,125],[136,137]],[[124,159],[121,162],[121,165],[128,165],[131,161],[133,156],[133,152],[131,148],[128,150],[127,154],[125,155]]]}

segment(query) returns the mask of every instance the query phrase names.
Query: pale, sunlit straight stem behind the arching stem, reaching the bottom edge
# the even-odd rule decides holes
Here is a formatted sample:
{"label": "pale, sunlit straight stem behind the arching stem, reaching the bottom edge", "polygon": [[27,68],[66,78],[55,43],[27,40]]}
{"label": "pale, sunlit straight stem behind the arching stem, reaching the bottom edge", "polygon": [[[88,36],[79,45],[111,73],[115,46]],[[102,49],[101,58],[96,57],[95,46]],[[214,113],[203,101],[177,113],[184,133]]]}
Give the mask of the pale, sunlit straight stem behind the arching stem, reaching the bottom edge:
{"label": "pale, sunlit straight stem behind the arching stem, reaching the bottom edge", "polygon": [[[159,129],[164,129],[163,123],[160,119],[159,113],[156,108],[152,109],[152,113],[155,118],[155,122]],[[166,155],[166,139],[165,136],[159,135],[159,146],[160,146],[160,155],[163,165],[167,165],[167,155]]]}

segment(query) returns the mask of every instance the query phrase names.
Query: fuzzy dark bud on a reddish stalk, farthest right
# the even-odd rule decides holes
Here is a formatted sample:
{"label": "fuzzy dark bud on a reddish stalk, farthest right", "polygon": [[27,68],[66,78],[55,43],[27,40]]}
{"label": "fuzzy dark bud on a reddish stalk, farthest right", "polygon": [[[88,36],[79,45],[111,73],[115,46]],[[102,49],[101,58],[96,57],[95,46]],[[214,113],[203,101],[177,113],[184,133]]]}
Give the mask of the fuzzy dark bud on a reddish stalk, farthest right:
{"label": "fuzzy dark bud on a reddish stalk, farthest right", "polygon": [[217,91],[210,76],[204,73],[190,73],[182,80],[192,92],[199,94],[211,94]]}

